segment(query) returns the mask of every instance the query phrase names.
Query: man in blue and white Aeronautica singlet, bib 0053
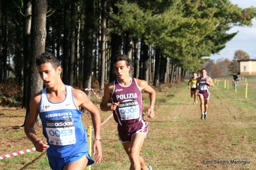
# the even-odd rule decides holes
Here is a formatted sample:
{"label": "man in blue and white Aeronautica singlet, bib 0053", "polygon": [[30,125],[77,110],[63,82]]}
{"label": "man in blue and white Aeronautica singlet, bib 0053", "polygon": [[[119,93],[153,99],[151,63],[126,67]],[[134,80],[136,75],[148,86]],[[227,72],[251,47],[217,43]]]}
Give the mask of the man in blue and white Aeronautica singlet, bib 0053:
{"label": "man in blue and white Aeronautica singlet, bib 0053", "polygon": [[[101,162],[101,118],[99,109],[80,89],[66,86],[60,77],[62,66],[49,52],[36,59],[38,73],[46,88],[30,100],[30,112],[24,131],[37,151],[46,151],[49,166],[53,170],[83,170],[94,163],[90,157],[87,132],[81,120],[83,107],[90,112],[94,125],[93,154],[98,151],[96,162]],[[35,121],[40,116],[43,134],[47,141],[39,139],[35,132]]]}

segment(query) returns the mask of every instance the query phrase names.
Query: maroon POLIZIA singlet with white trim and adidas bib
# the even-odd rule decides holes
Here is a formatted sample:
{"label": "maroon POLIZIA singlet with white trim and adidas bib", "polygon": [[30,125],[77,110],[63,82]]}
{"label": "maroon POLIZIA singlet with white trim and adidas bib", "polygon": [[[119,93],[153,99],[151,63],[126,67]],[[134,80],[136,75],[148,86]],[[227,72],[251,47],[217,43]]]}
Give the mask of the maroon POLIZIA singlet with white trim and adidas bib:
{"label": "maroon POLIZIA singlet with white trim and adidas bib", "polygon": [[119,107],[113,111],[114,120],[119,125],[132,125],[143,120],[141,89],[135,78],[131,78],[128,86],[122,86],[116,79],[111,99],[119,102]]}

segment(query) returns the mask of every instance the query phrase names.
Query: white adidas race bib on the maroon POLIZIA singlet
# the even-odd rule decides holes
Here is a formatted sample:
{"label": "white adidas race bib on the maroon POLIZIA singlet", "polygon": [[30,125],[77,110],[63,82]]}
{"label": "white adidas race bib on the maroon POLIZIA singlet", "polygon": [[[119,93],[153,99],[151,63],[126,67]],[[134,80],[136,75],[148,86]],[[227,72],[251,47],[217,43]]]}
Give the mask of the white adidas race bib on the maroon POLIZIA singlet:
{"label": "white adidas race bib on the maroon POLIZIA singlet", "polygon": [[121,120],[135,120],[140,116],[140,107],[137,100],[119,104]]}

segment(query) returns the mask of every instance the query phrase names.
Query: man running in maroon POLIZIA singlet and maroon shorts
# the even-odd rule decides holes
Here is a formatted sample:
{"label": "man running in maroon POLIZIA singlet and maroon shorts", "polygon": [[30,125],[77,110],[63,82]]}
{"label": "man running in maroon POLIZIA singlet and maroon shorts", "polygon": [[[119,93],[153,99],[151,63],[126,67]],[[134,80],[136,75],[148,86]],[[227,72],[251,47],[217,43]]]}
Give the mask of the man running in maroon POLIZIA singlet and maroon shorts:
{"label": "man running in maroon POLIZIA singlet and maroon shorts", "polygon": [[[114,58],[117,79],[107,84],[101,101],[101,111],[112,111],[117,123],[119,141],[130,158],[130,169],[148,170],[144,159],[139,155],[146,134],[148,122],[144,120],[141,91],[149,93],[150,107],[148,118],[155,116],[156,92],[146,81],[130,77],[130,59],[126,55]],[[108,101],[112,100],[111,104]]]}

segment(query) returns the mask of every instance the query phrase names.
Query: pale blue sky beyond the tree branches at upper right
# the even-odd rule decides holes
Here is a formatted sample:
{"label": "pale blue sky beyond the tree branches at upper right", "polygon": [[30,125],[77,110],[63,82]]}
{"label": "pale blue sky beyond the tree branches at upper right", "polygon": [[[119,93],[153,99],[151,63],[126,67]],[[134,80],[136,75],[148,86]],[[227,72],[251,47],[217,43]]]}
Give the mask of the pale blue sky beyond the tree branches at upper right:
{"label": "pale blue sky beyond the tree branches at upper right", "polygon": [[[256,0],[230,0],[232,4],[238,4],[240,8],[248,8],[250,6],[256,7]],[[247,52],[250,59],[256,59],[256,19],[252,20],[252,27],[238,27],[234,26],[227,33],[237,33],[237,35],[226,43],[225,49],[221,50],[219,54],[210,56],[210,59],[228,58],[230,61],[234,58],[236,50],[243,50]]]}

